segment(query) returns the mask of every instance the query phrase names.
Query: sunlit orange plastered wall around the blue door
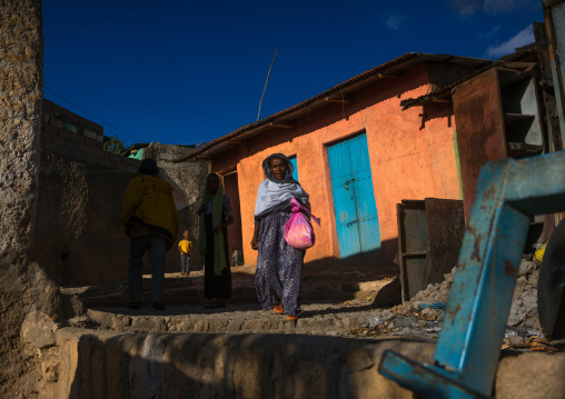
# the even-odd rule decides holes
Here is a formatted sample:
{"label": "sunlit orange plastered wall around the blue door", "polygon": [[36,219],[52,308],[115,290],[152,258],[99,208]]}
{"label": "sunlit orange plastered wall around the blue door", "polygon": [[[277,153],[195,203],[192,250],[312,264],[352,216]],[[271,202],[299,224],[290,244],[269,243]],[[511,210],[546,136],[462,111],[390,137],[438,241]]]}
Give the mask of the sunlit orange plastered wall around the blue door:
{"label": "sunlit orange plastered wall around the blue door", "polygon": [[[267,140],[272,141],[274,136],[264,134],[266,137],[262,140],[267,144],[257,151],[251,148],[252,154],[239,160],[237,172],[246,263],[256,263],[257,251],[250,249],[255,201],[257,188],[265,179],[261,162],[274,152],[297,156],[298,179],[310,194],[313,213],[321,219],[321,228],[314,226],[316,245],[307,250],[305,261],[339,256],[327,160],[328,144],[359,132],[366,133],[381,241],[397,239],[396,205],[403,199],[459,199],[453,118],[427,120],[420,129],[422,107],[406,111],[400,107],[403,99],[428,92],[429,86],[422,82],[426,79],[424,73],[420,71],[413,76],[412,84],[409,77],[403,77],[403,84],[412,88],[400,96],[390,94],[398,88],[398,84],[393,83],[380,87],[383,94],[377,100],[370,90],[359,93],[354,100],[357,101],[357,110],[346,118],[328,118],[327,124],[318,123],[316,129],[306,123],[301,128],[297,124],[294,136],[281,132],[277,136],[279,142],[275,140],[272,144]],[[318,118],[325,117],[320,114]]]}

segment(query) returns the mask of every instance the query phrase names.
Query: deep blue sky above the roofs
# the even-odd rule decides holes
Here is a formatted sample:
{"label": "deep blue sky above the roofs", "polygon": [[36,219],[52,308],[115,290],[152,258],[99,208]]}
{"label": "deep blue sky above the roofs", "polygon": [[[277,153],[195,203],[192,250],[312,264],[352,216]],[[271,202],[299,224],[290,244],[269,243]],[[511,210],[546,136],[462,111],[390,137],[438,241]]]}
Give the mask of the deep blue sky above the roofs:
{"label": "deep blue sky above the roofs", "polygon": [[542,0],[42,2],[44,97],[127,146],[209,141],[406,52],[499,58]]}

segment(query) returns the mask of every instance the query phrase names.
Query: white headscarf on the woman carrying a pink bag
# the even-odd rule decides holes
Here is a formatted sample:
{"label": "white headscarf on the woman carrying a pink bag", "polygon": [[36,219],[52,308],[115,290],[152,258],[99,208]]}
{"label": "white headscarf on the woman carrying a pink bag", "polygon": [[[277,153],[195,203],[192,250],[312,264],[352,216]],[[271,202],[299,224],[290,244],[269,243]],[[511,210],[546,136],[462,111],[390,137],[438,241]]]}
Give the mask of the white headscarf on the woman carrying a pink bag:
{"label": "white headscarf on the woman carrying a pink bag", "polygon": [[[281,180],[275,179],[269,168],[269,161],[272,158],[280,158],[287,162],[287,172]],[[262,161],[265,179],[257,190],[257,201],[255,202],[255,220],[258,222],[268,213],[284,210],[290,207],[290,199],[295,197],[303,205],[308,203],[308,193],[304,191],[298,181],[293,179],[295,167],[290,160],[282,153],[274,153]]]}

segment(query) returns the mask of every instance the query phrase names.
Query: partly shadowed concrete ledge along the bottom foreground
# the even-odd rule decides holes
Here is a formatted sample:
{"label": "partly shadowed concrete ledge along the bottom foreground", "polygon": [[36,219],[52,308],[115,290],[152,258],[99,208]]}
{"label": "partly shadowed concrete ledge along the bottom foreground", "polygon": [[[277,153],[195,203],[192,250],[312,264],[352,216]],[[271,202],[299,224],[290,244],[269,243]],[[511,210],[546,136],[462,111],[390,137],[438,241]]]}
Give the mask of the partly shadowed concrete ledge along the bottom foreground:
{"label": "partly shadowed concrete ledge along the bottom foreground", "polygon": [[[378,373],[383,352],[435,343],[288,335],[57,333],[58,398],[413,398]],[[496,398],[563,398],[565,356],[503,352]]]}

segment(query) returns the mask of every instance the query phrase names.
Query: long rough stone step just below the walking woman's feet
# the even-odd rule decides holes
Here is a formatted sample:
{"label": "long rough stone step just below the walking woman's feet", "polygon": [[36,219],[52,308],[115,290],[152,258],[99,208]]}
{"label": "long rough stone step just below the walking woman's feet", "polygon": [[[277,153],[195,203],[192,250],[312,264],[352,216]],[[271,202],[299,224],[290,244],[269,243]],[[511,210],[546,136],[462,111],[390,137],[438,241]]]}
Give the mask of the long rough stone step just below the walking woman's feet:
{"label": "long rough stone step just below the walking woman's feet", "polygon": [[288,320],[286,315],[261,310],[259,305],[236,303],[226,309],[206,309],[201,306],[168,306],[165,311],[152,308],[89,309],[90,320],[101,327],[133,332],[285,332],[324,333],[337,336],[363,326],[374,310],[370,302],[307,303],[300,319]]}

